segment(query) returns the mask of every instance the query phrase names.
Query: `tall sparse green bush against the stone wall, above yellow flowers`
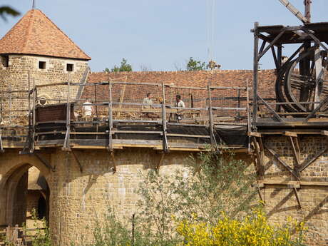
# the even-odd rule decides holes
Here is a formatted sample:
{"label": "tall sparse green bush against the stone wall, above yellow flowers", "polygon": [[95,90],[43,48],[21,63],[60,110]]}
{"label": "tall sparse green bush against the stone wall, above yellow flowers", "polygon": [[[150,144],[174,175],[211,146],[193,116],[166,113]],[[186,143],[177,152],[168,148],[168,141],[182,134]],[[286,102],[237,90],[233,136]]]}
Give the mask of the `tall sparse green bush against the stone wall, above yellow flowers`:
{"label": "tall sparse green bush against the stone wall, above yellow flowers", "polygon": [[187,164],[173,175],[150,170],[140,183],[140,220],[153,228],[155,237],[174,239],[173,215],[188,220],[197,214],[199,221],[215,223],[222,211],[230,217],[251,212],[255,174],[245,162],[231,154],[207,152],[191,156]]}

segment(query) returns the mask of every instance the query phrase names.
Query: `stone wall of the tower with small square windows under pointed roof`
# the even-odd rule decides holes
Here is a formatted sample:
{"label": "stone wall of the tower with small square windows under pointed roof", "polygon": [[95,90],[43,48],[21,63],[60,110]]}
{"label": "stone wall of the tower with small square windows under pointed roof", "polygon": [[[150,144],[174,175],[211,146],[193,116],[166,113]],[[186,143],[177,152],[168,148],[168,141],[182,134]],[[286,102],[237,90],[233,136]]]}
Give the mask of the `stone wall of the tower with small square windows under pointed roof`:
{"label": "stone wall of the tower with small square windows under pointed roof", "polygon": [[[45,62],[45,68],[39,68],[39,61]],[[66,64],[73,64],[73,71],[66,71]],[[0,63],[0,90],[2,92],[3,121],[26,121],[26,112],[15,110],[28,109],[27,93],[5,93],[5,91],[22,91],[33,88],[35,85],[61,83],[71,81],[81,83],[88,68],[87,61],[78,61],[66,58],[51,58],[42,56],[9,55],[9,66]],[[78,86],[71,86],[71,100],[75,100]],[[61,101],[47,101],[47,103],[65,102],[67,86],[51,86],[38,89],[38,97],[61,99]],[[9,100],[11,98],[11,100]]]}

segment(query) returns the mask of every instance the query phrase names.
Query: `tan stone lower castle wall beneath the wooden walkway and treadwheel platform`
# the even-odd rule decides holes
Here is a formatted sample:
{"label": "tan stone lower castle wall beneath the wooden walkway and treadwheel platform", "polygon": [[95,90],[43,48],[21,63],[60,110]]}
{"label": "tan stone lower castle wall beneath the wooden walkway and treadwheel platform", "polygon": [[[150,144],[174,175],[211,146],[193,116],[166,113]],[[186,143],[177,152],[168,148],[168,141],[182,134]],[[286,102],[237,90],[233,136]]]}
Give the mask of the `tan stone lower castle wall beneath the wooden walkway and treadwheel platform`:
{"label": "tan stone lower castle wall beneath the wooden walkway and treadwheel platform", "polygon": [[[265,143],[275,149],[281,158],[293,165],[292,149],[285,137],[266,138]],[[300,140],[302,160],[312,158],[317,151],[327,144],[322,137],[304,137]],[[24,165],[36,165],[48,181],[50,188],[50,227],[55,244],[70,245],[72,241],[91,240],[91,227],[96,220],[103,220],[108,207],[113,207],[119,217],[129,218],[136,211],[135,194],[138,183],[142,180],[140,173],[154,168],[160,153],[146,148],[127,148],[117,150],[115,161],[117,171],[113,173],[113,158],[106,150],[74,150],[82,165],[71,153],[62,150],[41,152],[53,170],[48,170],[34,155],[18,155],[16,150],[8,150],[0,160],[0,222],[6,223],[6,212],[1,208],[6,204],[6,196],[1,185],[9,183],[11,177],[18,177]],[[183,168],[190,153],[174,152],[165,155],[161,173],[173,173],[176,168]],[[236,155],[248,162],[250,155]],[[261,188],[265,200],[265,210],[270,221],[284,222],[288,216],[299,221],[304,220],[309,227],[307,242],[309,245],[327,245],[328,219],[328,154],[324,153],[309,168],[302,172],[302,182],[317,182],[315,185],[302,185],[299,193],[302,207],[298,207],[293,190],[287,185],[279,184],[292,180],[270,153],[265,151],[265,175],[260,181],[267,182]],[[23,164],[25,163],[25,164]],[[27,164],[26,164],[27,163]],[[21,175],[22,176],[22,175]],[[319,183],[322,182],[322,185]],[[10,190],[10,189],[9,189]],[[8,192],[10,192],[8,190]],[[2,195],[1,195],[2,194]],[[7,194],[8,195],[8,194]],[[8,206],[7,206],[8,207]],[[14,208],[13,208],[14,209]],[[12,211],[8,211],[7,213]]]}

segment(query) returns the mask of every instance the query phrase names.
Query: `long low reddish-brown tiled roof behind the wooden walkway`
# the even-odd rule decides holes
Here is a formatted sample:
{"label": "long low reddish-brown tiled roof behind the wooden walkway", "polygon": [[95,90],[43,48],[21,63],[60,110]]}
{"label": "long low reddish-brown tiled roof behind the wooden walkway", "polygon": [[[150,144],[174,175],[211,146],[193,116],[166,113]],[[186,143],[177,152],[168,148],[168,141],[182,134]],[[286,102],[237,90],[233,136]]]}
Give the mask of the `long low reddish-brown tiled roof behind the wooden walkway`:
{"label": "long low reddish-brown tiled roof behind the wooden walkway", "polygon": [[[145,72],[115,72],[115,73],[90,73],[88,83],[96,83],[101,81],[128,81],[136,83],[171,83],[175,86],[193,86],[205,87],[210,81],[212,86],[252,86],[253,71],[252,70],[217,70],[217,71],[145,71]],[[262,98],[275,97],[275,70],[259,71],[259,87],[258,92]],[[121,91],[113,93],[120,94]],[[106,86],[86,86],[82,93],[82,98],[93,98],[96,95],[98,100],[106,101],[108,98],[108,88]],[[120,89],[120,88],[118,88]],[[182,91],[182,90],[181,90]],[[132,91],[129,95],[128,90],[125,90],[125,98],[143,98],[147,91],[140,90]],[[225,96],[236,96],[235,90],[224,90]],[[121,95],[121,94],[120,94]],[[117,95],[113,95],[115,99]],[[250,95],[252,96],[252,95]]]}

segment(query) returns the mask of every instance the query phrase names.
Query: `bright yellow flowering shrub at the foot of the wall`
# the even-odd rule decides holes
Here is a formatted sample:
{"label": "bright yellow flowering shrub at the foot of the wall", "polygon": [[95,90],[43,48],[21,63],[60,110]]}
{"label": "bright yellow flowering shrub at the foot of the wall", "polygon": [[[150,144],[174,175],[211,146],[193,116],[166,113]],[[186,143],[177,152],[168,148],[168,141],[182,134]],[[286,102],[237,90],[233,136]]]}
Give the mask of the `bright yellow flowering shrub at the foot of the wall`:
{"label": "bright yellow flowering shrub at the foot of the wall", "polygon": [[180,246],[296,246],[302,245],[304,223],[287,220],[285,225],[271,225],[257,210],[244,220],[223,215],[215,225],[193,220],[178,222],[177,232],[184,238]]}

